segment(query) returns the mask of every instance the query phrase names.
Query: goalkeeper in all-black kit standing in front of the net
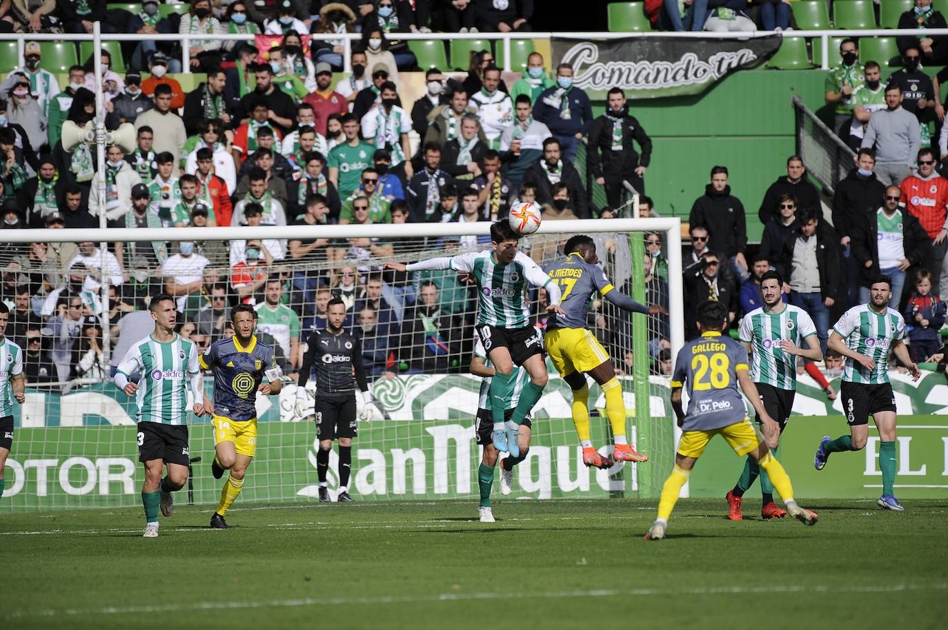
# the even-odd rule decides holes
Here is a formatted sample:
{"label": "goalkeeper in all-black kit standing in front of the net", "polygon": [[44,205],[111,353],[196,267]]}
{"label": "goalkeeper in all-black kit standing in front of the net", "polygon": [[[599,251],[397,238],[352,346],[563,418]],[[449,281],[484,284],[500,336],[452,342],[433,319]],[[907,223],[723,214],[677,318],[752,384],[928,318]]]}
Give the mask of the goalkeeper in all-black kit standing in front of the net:
{"label": "goalkeeper in all-black kit standing in front of the net", "polygon": [[328,502],[329,451],[339,441],[339,492],[336,500],[352,501],[349,477],[352,473],[353,438],[356,437],[356,384],[362,392],[362,420],[372,417],[374,403],[362,365],[362,343],[353,333],[342,329],[346,305],[338,297],[326,305],[326,330],[309,337],[303,356],[299,387],[306,387],[310,371],[316,368],[316,427],[319,437],[317,473],[319,501]]}

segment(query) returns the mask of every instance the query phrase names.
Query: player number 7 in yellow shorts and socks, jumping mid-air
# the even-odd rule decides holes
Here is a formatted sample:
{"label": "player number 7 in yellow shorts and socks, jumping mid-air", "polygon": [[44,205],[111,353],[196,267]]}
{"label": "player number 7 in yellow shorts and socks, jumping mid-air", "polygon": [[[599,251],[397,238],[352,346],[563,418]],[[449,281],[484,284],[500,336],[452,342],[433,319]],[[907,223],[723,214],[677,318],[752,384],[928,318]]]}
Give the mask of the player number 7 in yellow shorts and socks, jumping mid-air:
{"label": "player number 7 in yellow shorts and socks, jumping mid-air", "polygon": [[549,316],[543,343],[556,370],[573,388],[573,423],[583,447],[583,463],[597,468],[611,466],[611,461],[603,458],[593,447],[590,389],[586,383],[586,374],[593,377],[606,396],[606,415],[609,416],[615,440],[612,459],[647,461],[647,456],[637,453],[626,438],[626,405],[622,400],[622,386],[615,378],[609,352],[586,328],[586,315],[590,297],[594,293],[632,313],[668,313],[661,306],[645,307],[616,291],[606,273],[596,266],[599,259],[595,243],[590,237],[572,237],[563,247],[563,253],[566,258],[549,266],[546,272],[562,292],[559,305],[565,314],[554,313]]}

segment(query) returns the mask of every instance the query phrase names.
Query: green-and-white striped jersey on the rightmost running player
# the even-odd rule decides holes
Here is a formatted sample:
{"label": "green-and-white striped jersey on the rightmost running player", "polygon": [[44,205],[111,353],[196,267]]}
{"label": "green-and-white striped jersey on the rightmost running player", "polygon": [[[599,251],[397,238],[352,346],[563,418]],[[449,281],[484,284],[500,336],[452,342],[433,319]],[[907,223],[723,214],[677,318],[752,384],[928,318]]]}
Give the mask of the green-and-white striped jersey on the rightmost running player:
{"label": "green-and-white striped jersey on the rightmost running player", "polygon": [[853,306],[839,318],[832,330],[846,340],[849,350],[864,354],[876,362],[868,370],[852,359],[846,359],[843,380],[848,383],[880,385],[888,383],[888,355],[892,344],[905,336],[905,320],[895,309],[876,313],[868,304]]}

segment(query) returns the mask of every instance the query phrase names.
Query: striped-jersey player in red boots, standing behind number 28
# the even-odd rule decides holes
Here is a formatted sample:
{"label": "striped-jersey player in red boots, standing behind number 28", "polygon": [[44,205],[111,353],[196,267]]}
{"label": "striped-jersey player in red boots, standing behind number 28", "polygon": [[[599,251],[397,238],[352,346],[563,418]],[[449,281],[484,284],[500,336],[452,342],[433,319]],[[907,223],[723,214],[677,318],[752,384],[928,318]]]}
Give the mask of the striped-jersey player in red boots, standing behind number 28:
{"label": "striped-jersey player in red boots, standing behind number 28", "polygon": [[[744,349],[751,352],[751,380],[757,386],[760,402],[767,414],[776,423],[761,423],[761,432],[771,453],[776,455],[780,435],[787,426],[793,409],[796,393],[796,357],[811,361],[822,361],[819,338],[813,320],[801,308],[783,301],[783,278],[775,271],[760,277],[760,294],[763,306],[757,308],[740,321],[738,338]],[[806,348],[804,348],[806,346]],[[760,477],[760,492],[764,518],[783,518],[787,511],[774,502],[774,484],[767,473],[760,470],[757,459],[748,457],[738,483],[727,493],[728,518],[738,521],[743,518],[740,503],[747,489]]]}

